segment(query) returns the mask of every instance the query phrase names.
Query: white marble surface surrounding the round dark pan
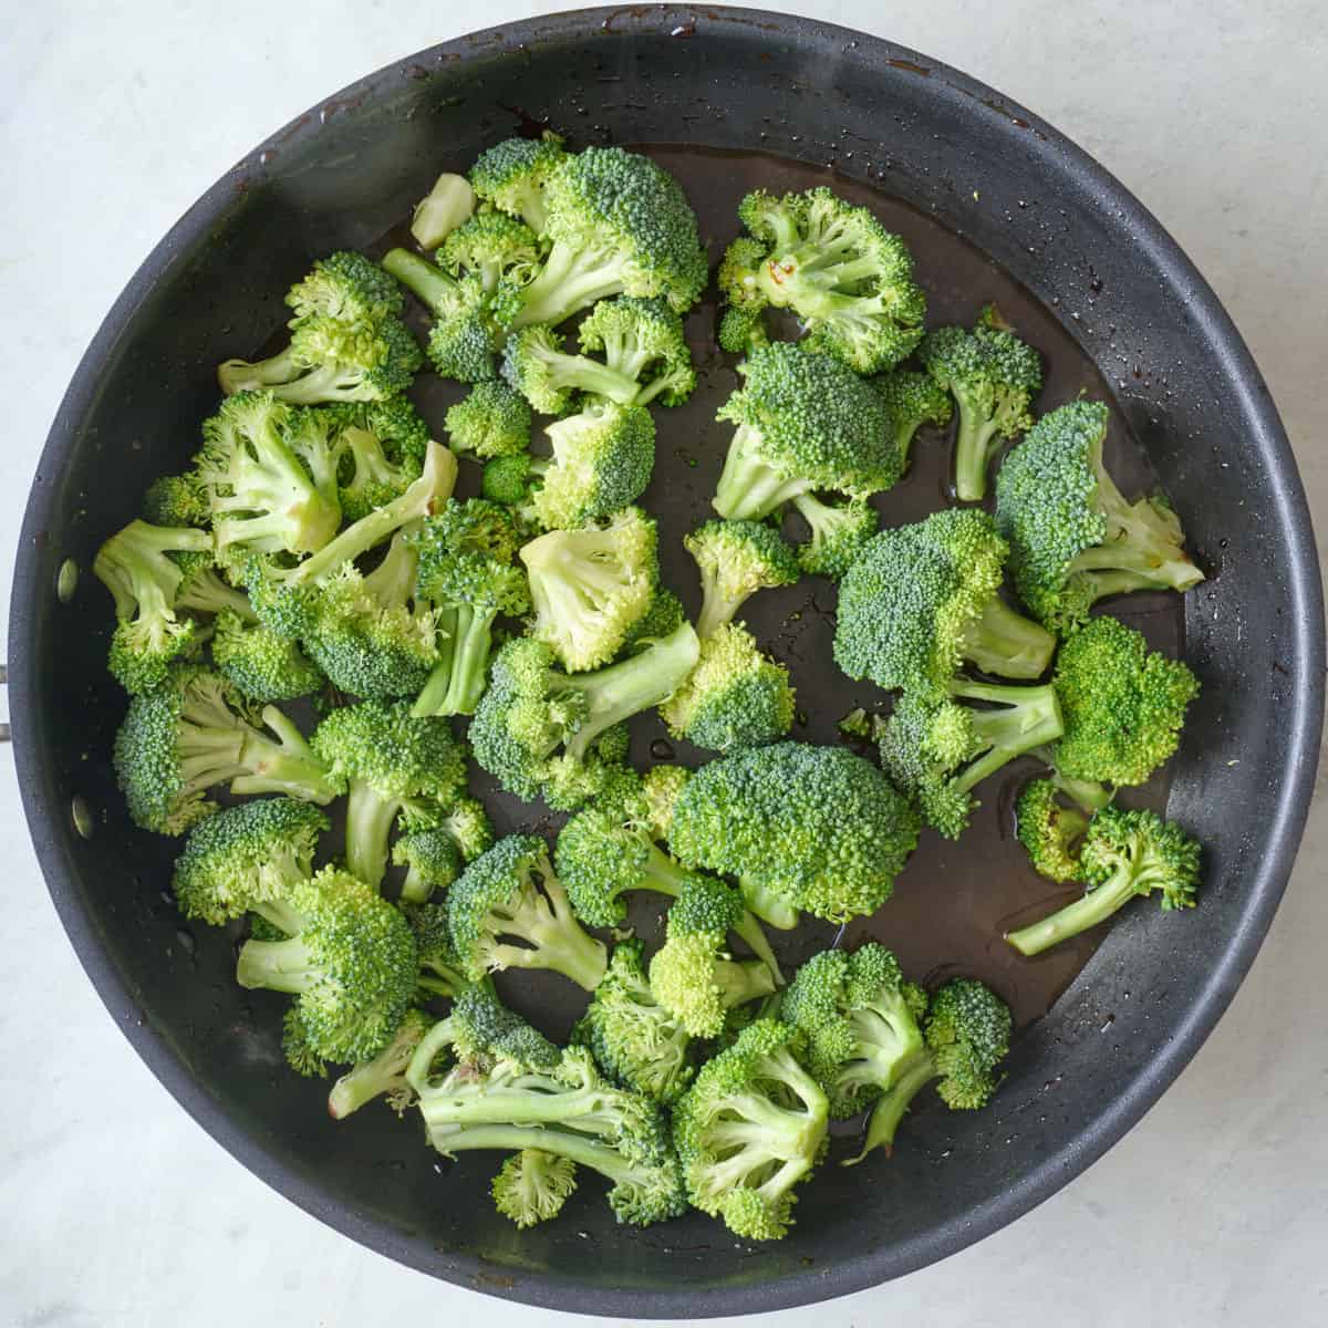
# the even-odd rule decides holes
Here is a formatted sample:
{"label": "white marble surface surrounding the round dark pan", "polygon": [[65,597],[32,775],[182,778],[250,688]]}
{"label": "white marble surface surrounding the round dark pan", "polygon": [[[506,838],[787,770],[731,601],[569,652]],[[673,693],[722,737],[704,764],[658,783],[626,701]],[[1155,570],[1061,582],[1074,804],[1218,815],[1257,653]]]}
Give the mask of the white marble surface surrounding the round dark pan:
{"label": "white marble surface surrounding the round dark pan", "polygon": [[[0,595],[8,596],[24,495],[64,385],[162,231],[271,129],[360,73],[539,8],[514,0],[4,7]],[[869,0],[805,0],[805,8],[968,69],[1035,108],[1161,216],[1250,340],[1328,534],[1320,5],[930,0],[887,13]],[[0,1324],[572,1323],[434,1283],[352,1244],[187,1120],[74,960],[3,753],[0,854]],[[1321,786],[1248,981],[1179,1082],[1102,1162],[939,1267],[772,1315],[769,1328],[1328,1323],[1325,866]]]}

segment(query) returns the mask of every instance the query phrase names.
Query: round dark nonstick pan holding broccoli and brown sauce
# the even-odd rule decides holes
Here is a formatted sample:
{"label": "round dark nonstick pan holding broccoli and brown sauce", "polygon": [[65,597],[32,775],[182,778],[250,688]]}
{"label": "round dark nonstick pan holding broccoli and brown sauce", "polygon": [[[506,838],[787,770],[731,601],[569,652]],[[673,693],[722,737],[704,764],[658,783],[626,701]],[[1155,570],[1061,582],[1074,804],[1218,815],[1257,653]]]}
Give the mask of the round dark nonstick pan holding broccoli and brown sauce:
{"label": "round dark nonstick pan holding broccoli and brown sauce", "polygon": [[[1201,907],[1179,919],[1130,910],[1096,951],[1098,938],[1054,960],[1062,969],[1016,980],[993,928],[1007,894],[1040,896],[1027,874],[1017,888],[1007,880],[1019,870],[1001,838],[1007,791],[992,798],[991,843],[924,846],[866,930],[915,971],[964,967],[1001,987],[1027,1024],[1009,1078],[985,1112],[915,1110],[888,1162],[827,1167],[776,1244],[695,1214],[622,1228],[590,1185],[562,1220],[515,1232],[486,1194],[495,1158],[436,1165],[385,1110],[331,1122],[325,1085],[283,1068],[279,1005],[231,980],[234,938],[183,927],[169,894],[175,845],[129,823],[110,770],[124,696],[105,672],[109,602],[92,558],[146,483],[194,449],[218,360],[280,327],[282,292],[311,255],[372,250],[437,171],[544,124],[668,158],[716,243],[733,224],[716,201],[729,212],[753,151],[788,179],[814,169],[870,190],[915,244],[935,316],[964,316],[963,300],[991,287],[1048,351],[1057,400],[1110,396],[1121,465],[1174,497],[1208,574],[1183,623],[1174,604],[1131,610],[1154,639],[1183,640],[1203,683],[1170,789],[1145,794],[1206,846]],[[706,319],[713,308],[689,324],[697,345]],[[703,393],[722,396],[730,365],[701,369]],[[661,425],[676,453],[661,446],[652,494],[665,521],[704,505],[724,437],[708,400]],[[920,449],[892,519],[940,505],[943,456],[943,440]],[[371,74],[251,153],[154,250],[84,357],[33,482],[12,603],[13,740],[42,870],[89,976],[162,1082],[247,1167],[347,1235],[491,1295],[600,1315],[700,1317],[843,1295],[980,1239],[1100,1157],[1175,1078],[1250,967],[1291,870],[1321,722],[1321,594],[1291,450],[1248,351],[1175,243],[1106,171],[989,88],[884,41],[756,11],[599,9],[478,33]],[[757,623],[794,667],[806,736],[823,741],[855,699],[823,649],[830,607],[818,594],[772,600]],[[928,939],[942,935],[957,938],[955,954]],[[511,999],[555,1025],[571,1009],[533,988]]]}

